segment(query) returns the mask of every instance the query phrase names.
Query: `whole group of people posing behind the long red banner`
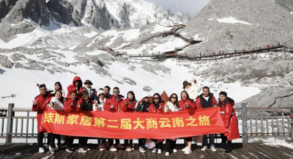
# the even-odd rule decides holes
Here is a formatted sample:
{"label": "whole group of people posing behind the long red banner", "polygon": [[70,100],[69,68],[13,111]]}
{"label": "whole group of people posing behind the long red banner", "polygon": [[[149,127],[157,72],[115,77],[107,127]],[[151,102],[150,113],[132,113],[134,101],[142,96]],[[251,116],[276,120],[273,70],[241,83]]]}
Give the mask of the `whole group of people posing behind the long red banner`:
{"label": "whole group of people posing behind the long red banner", "polygon": [[[129,91],[126,94],[126,98],[120,94],[120,89],[114,87],[112,94],[110,94],[110,87],[105,86],[104,88],[99,88],[98,90],[93,89],[93,85],[90,80],[83,82],[80,77],[74,77],[72,85],[67,87],[67,95],[63,91],[60,82],[55,83],[55,91],[47,91],[44,84],[39,85],[40,94],[35,97],[33,101],[32,110],[37,111],[38,120],[38,144],[39,152],[44,152],[43,149],[43,135],[44,129],[41,125],[42,115],[45,107],[63,110],[64,112],[78,112],[80,110],[84,111],[139,111],[139,112],[153,112],[153,113],[164,113],[171,111],[194,111],[196,109],[204,109],[208,107],[218,107],[220,106],[221,115],[225,124],[225,128],[228,129],[229,135],[238,135],[238,124],[234,112],[234,101],[227,97],[227,93],[221,91],[219,93],[219,102],[217,103],[215,97],[209,91],[209,87],[203,87],[193,79],[193,84],[188,81],[183,82],[183,91],[179,96],[176,93],[172,93],[167,102],[161,99],[159,93],[155,93],[152,96],[152,101],[150,101],[150,95],[145,94],[142,101],[138,101],[135,97],[133,91]],[[202,94],[199,94],[200,91]],[[236,120],[235,120],[236,119]],[[74,152],[73,141],[75,138],[79,140],[78,152],[86,153],[90,150],[87,147],[87,137],[71,137],[71,136],[61,136],[58,134],[48,133],[47,148],[55,153],[60,150],[61,139],[66,143],[66,151]],[[231,141],[228,140],[227,136],[221,134],[222,142],[217,149],[224,149],[224,153],[231,152]],[[55,145],[55,139],[58,143]],[[208,142],[209,139],[209,142]],[[149,139],[156,143],[151,151],[153,153],[162,153],[163,141]],[[126,149],[126,151],[134,151],[132,144],[133,140],[124,140],[124,145],[120,143],[119,139],[104,139],[98,138],[99,150],[104,151],[109,149],[110,151],[117,151],[117,149]],[[147,148],[145,146],[146,139],[138,139],[139,151],[146,152]],[[185,154],[191,153],[191,143],[195,141],[197,145],[202,146],[201,150],[206,151],[208,146],[212,151],[217,151],[214,143],[214,134],[207,134],[203,136],[196,136],[184,138],[186,147],[182,149]],[[176,139],[166,139],[165,151],[166,156],[169,156],[171,152],[177,152],[175,149]]]}

